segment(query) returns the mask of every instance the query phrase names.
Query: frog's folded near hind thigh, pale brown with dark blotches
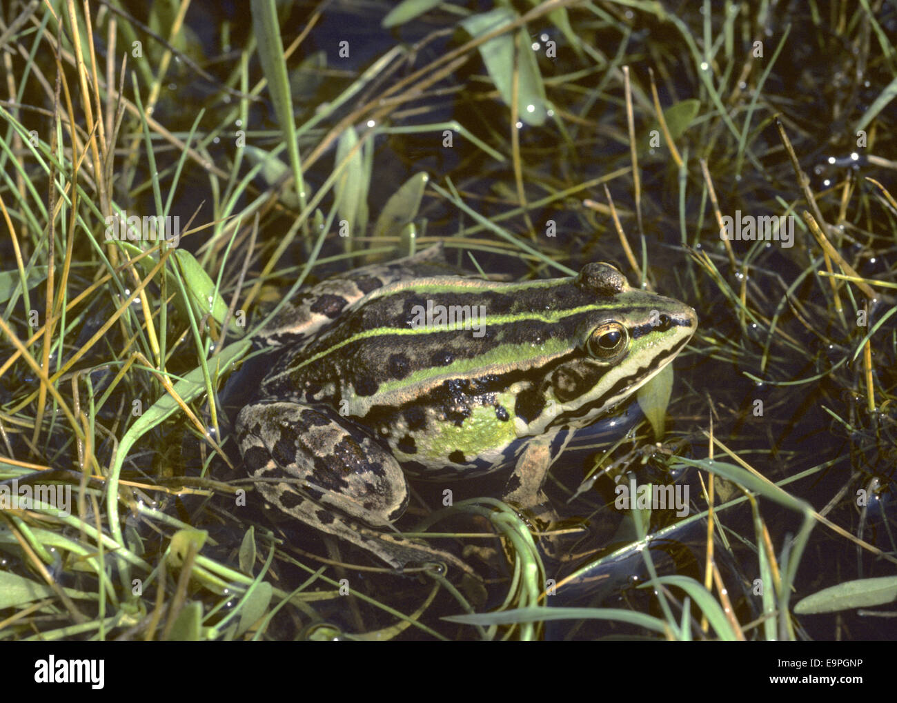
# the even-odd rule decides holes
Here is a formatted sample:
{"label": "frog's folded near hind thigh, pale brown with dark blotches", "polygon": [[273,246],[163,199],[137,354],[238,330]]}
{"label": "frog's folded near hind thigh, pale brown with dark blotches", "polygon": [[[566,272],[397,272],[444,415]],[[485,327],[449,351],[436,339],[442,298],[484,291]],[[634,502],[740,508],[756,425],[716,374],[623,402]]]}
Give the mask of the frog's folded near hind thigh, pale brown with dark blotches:
{"label": "frog's folded near hind thigh, pale brown with dark blotches", "polygon": [[405,512],[408,484],[396,458],[328,408],[247,405],[239,412],[237,429],[248,473],[299,479],[257,483],[257,490],[288,514],[320,524],[328,520],[321,506],[330,506],[382,526]]}

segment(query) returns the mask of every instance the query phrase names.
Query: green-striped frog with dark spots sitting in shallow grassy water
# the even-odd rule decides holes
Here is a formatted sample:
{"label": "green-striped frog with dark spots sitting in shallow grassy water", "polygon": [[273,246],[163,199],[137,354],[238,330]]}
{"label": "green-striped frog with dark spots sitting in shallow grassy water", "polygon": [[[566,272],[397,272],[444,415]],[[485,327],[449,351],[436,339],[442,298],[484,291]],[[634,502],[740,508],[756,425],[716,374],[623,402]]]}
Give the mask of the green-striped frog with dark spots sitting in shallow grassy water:
{"label": "green-striped frog with dark spots sitting in shallow grassy water", "polygon": [[[239,449],[276,510],[395,568],[435,560],[444,554],[389,531],[407,476],[481,476],[592,425],[696,325],[692,308],[631,288],[611,265],[495,282],[458,275],[431,247],[300,292],[259,334],[279,350],[239,412]],[[534,502],[547,465],[517,466],[506,498]]]}

